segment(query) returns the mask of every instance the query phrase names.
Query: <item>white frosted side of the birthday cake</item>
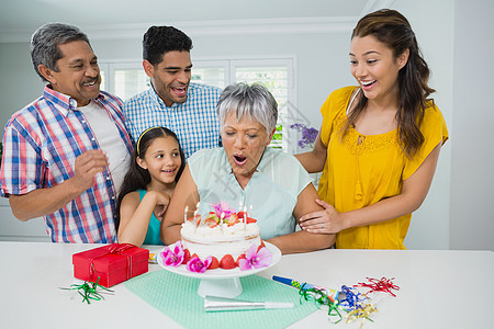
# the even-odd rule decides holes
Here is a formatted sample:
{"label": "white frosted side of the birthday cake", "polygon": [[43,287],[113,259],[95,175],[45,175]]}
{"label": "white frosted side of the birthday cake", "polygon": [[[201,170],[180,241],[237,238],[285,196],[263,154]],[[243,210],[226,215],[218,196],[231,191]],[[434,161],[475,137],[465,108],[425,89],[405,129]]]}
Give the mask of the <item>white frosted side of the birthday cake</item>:
{"label": "white frosted side of the birthday cake", "polygon": [[237,223],[232,226],[225,224],[222,231],[220,225],[213,228],[201,225],[195,228],[194,223],[188,220],[182,224],[180,232],[183,248],[189,249],[191,256],[198,254],[201,260],[214,256],[221,261],[229,253],[236,261],[252,243],[261,243],[257,223]]}

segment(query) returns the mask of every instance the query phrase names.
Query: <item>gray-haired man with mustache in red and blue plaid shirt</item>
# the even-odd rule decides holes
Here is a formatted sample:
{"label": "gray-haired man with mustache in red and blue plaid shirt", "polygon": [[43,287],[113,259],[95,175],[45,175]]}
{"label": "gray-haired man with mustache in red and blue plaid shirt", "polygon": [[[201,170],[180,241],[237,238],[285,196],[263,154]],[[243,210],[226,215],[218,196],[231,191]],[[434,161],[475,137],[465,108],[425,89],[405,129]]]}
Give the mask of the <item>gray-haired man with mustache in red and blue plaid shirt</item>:
{"label": "gray-haired man with mustache in red and blue plaid shirt", "polygon": [[114,242],[116,193],[130,163],[122,102],[78,27],[50,23],[31,41],[43,95],[3,134],[0,193],[20,220],[44,217],[54,242]]}

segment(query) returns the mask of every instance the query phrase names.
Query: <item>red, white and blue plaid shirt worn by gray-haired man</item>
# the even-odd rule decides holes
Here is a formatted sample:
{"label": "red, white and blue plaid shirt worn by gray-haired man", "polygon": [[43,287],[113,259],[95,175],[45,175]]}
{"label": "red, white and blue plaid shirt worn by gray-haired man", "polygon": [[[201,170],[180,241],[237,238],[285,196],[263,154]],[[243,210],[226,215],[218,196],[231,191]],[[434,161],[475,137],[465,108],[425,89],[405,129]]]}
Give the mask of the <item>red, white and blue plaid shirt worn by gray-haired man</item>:
{"label": "red, white and blue plaid shirt worn by gray-haired man", "polygon": [[[132,151],[124,126],[122,102],[101,92],[94,101],[106,110],[121,138]],[[76,100],[45,87],[43,97],[16,112],[3,134],[1,194],[26,194],[49,189],[75,175],[76,157],[98,149],[98,141],[77,111]],[[59,211],[44,216],[54,242],[114,242],[116,194],[108,168],[96,184]]]}

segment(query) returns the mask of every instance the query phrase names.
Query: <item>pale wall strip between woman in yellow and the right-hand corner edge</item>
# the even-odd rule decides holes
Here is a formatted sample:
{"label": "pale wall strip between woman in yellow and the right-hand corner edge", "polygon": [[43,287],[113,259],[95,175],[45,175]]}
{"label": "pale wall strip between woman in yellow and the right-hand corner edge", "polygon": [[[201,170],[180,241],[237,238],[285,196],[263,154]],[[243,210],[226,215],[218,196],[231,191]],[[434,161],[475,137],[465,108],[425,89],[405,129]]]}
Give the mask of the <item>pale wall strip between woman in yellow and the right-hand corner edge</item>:
{"label": "pale wall strip between woman in yellow and the right-hand corner edge", "polygon": [[[394,1],[393,9],[403,13],[415,32],[430,70],[431,97],[441,110],[450,135],[452,116],[453,2]],[[452,143],[448,140],[439,157],[433,185],[424,204],[412,216],[405,246],[413,249],[449,249],[450,178]]]}

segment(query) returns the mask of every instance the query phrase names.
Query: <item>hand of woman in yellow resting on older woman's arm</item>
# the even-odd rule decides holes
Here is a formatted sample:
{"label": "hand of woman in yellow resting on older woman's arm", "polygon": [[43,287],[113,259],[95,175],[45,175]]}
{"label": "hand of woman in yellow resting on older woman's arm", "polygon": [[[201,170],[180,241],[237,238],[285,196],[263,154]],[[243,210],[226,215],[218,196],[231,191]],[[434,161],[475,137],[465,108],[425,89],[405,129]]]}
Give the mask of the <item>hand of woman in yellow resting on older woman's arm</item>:
{"label": "hand of woman in yellow resting on older woman's arm", "polygon": [[346,229],[341,213],[338,213],[330,204],[316,198],[315,202],[324,207],[324,211],[313,212],[300,217],[300,227],[311,234],[337,234]]}

